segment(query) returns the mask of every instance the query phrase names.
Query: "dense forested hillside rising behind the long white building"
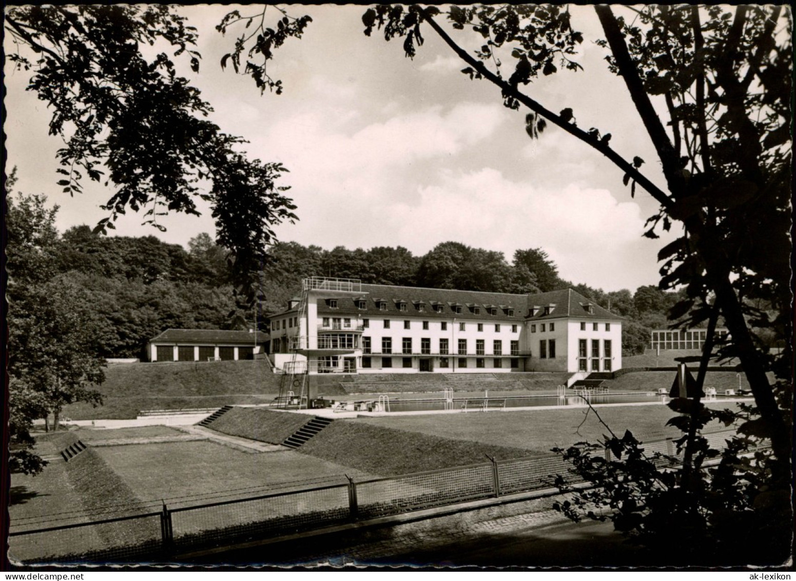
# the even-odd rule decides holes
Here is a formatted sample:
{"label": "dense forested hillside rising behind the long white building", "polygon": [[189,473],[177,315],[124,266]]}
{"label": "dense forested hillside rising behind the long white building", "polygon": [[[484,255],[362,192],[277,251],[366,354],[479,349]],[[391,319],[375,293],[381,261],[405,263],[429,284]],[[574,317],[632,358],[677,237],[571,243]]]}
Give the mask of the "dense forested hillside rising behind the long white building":
{"label": "dense forested hillside rising behind the long white building", "polygon": [[[35,280],[26,288],[47,283],[80,289],[79,296],[69,300],[72,308],[82,306],[92,314],[96,323],[92,340],[104,358],[140,357],[146,341],[167,328],[256,326],[265,331],[267,315],[283,308],[300,289],[302,278],[310,276],[486,292],[572,287],[626,317],[622,343],[627,355],[643,351],[650,328],[665,327],[667,311],[677,299],[676,293],[654,286],[635,292],[604,292],[565,281],[540,248],[517,250],[509,262],[503,253],[454,241],[436,245],[421,257],[400,246],[327,250],[280,242],[269,249],[270,262],[259,276],[260,300],[251,307],[232,285],[228,253],[208,234],[190,240],[188,249],[154,236],[94,234],[88,226],[59,234],[53,227],[55,214],[47,215],[44,202],[41,196],[21,195],[10,200],[7,225],[12,279],[22,282],[35,273]],[[14,241],[18,243],[14,245]]]}

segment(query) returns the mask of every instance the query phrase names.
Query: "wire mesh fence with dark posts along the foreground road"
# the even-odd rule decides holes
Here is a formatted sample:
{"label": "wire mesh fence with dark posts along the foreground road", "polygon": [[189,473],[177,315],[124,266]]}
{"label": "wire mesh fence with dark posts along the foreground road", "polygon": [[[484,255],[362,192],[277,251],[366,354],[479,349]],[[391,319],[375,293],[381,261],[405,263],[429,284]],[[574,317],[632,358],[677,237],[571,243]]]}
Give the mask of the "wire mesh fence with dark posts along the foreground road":
{"label": "wire mesh fence with dark posts along the foreground road", "polygon": [[[734,430],[703,434],[724,449]],[[767,446],[763,442],[759,447]],[[681,460],[672,439],[644,442],[646,457],[659,468]],[[607,449],[595,454],[611,460]],[[287,483],[277,492],[204,504],[164,504],[160,512],[94,517],[41,527],[41,521],[12,521],[9,556],[22,563],[146,563],[175,552],[229,546],[295,534],[353,520],[390,516],[423,508],[551,488],[556,475],[568,484],[582,481],[560,455],[489,461],[397,477],[345,483],[326,479]],[[254,492],[254,491],[252,491]],[[197,499],[198,500],[198,499]],[[70,517],[71,518],[71,517]],[[58,521],[56,521],[58,522]],[[63,522],[63,521],[60,521]]]}

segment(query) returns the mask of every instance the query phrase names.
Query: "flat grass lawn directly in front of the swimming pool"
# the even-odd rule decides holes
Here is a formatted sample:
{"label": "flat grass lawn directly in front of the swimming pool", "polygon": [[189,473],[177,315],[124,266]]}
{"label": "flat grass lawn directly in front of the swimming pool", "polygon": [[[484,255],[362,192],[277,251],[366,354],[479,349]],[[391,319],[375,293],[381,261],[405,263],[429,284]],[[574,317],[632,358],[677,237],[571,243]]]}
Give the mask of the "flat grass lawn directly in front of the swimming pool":
{"label": "flat grass lawn directly in front of the swimming pool", "polygon": [[[710,404],[714,406],[714,404]],[[722,404],[717,407],[734,407]],[[621,406],[597,408],[603,421],[615,434],[630,429],[643,440],[658,440],[680,434],[665,422],[674,412],[666,406]],[[479,444],[507,446],[527,453],[549,453],[554,446],[569,446],[582,440],[595,441],[607,433],[593,413],[586,409],[490,411],[470,414],[431,414],[404,417],[357,418],[346,422],[365,423],[394,430],[404,430],[452,438]],[[585,422],[583,422],[585,420]],[[581,422],[583,425],[581,426]],[[708,430],[720,430],[716,424]],[[464,464],[466,462],[459,462]]]}

